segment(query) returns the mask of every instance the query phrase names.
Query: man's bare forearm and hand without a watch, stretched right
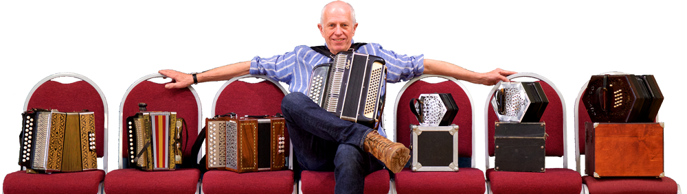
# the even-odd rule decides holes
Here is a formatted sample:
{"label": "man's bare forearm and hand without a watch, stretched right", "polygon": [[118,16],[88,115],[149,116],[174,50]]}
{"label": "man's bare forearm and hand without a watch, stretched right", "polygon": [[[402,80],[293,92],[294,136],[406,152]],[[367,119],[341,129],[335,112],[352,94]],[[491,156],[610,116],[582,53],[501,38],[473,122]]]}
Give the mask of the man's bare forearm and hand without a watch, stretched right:
{"label": "man's bare forearm and hand without a watch, stretched right", "polygon": [[515,71],[506,71],[500,68],[485,73],[477,73],[440,60],[425,58],[423,62],[425,63],[425,71],[423,71],[423,74],[447,75],[455,77],[455,79],[458,80],[485,86],[493,86],[499,81],[508,82],[506,76],[517,73]]}

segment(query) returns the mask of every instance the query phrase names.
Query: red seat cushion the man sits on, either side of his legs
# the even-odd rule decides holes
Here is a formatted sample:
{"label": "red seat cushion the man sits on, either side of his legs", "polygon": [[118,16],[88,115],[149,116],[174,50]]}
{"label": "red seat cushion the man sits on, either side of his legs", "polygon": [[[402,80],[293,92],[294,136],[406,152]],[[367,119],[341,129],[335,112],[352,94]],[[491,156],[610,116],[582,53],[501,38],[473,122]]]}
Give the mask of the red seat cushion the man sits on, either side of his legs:
{"label": "red seat cushion the man sits on, either side of his legs", "polygon": [[[365,194],[389,193],[389,171],[381,169],[365,176]],[[301,191],[306,194],[334,193],[334,172],[303,171]]]}

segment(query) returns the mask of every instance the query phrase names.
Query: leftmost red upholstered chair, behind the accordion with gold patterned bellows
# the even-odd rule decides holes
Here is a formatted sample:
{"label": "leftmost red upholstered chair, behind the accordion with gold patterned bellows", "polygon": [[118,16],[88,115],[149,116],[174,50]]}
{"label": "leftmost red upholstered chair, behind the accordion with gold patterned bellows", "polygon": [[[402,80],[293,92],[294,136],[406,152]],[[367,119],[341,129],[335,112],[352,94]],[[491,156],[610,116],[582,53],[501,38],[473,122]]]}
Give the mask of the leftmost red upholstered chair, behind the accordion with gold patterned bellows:
{"label": "leftmost red upholstered chair, behind the accordion with gold patterned bellows", "polygon": [[[75,77],[79,81],[60,83],[53,80],[57,77]],[[24,110],[31,108],[56,109],[61,112],[88,109],[94,112],[95,149],[102,169],[52,174],[14,171],[5,175],[3,193],[100,193],[107,171],[107,102],[98,85],[76,73],[50,75],[31,88],[24,102]]]}

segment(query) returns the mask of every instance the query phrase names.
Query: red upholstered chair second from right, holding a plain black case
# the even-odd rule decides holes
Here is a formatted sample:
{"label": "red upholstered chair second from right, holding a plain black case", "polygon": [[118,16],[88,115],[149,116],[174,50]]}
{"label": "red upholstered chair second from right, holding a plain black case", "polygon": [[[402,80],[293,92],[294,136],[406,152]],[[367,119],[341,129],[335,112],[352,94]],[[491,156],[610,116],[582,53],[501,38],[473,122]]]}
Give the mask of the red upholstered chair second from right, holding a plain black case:
{"label": "red upholstered chair second from right, holding a plain black case", "polygon": [[[546,123],[546,157],[563,157],[563,168],[546,168],[544,173],[494,171],[487,169],[485,174],[493,193],[581,193],[583,190],[582,178],[579,173],[567,168],[567,128],[565,99],[561,90],[556,88],[550,80],[534,73],[517,73],[510,75],[509,80],[517,77],[530,77],[537,79],[541,84],[548,106],[541,117],[540,122]],[[491,99],[495,93],[497,84],[487,96],[484,105],[484,142],[485,167],[491,167],[489,157],[494,156],[494,130],[498,121],[494,109],[491,107]]]}

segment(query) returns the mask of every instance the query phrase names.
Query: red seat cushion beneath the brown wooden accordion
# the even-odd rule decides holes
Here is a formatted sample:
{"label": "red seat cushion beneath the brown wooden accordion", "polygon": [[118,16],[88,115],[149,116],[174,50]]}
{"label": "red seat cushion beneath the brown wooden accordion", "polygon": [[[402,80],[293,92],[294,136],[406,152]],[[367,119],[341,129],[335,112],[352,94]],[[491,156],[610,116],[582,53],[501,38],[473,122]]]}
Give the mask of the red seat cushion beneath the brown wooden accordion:
{"label": "red seat cushion beneath the brown wooden accordion", "polygon": [[207,171],[203,193],[293,193],[293,171]]}

